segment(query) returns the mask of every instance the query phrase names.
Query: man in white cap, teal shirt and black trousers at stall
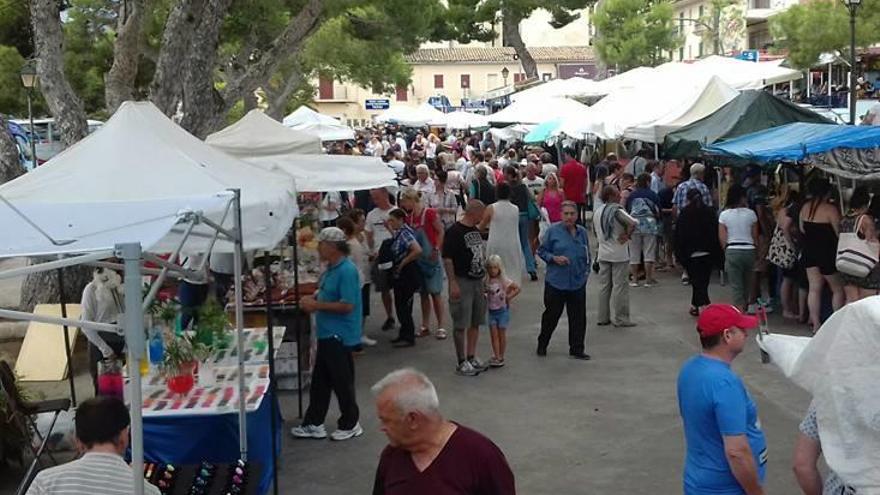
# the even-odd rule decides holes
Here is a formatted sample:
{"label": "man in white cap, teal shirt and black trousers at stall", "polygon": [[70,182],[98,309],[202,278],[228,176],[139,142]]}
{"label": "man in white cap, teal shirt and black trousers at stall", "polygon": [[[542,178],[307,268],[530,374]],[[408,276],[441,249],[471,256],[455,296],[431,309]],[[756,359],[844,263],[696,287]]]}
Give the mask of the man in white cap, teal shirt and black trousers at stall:
{"label": "man in white cap, teal shirt and black trousers at stall", "polygon": [[309,408],[301,426],[290,433],[296,438],[327,438],[324,419],[330,394],[339,400],[338,429],[333,440],[348,440],[364,433],[354,393],[352,348],[360,344],[361,289],[357,267],[348,259],[345,233],[327,227],[318,235],[318,255],[327,269],[318,282],[314,297],[303,297],[300,308],[315,314],[318,352],[309,389]]}

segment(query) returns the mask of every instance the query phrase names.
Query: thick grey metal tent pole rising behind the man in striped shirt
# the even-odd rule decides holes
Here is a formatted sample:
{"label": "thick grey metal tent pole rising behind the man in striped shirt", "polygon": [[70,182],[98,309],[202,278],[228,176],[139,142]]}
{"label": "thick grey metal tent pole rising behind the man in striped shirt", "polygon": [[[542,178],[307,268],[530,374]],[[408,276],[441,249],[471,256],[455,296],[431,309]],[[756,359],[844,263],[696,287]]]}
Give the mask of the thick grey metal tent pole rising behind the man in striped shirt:
{"label": "thick grey metal tent pole rising behind the man in striped shirt", "polygon": [[144,423],[141,417],[141,360],[144,358],[144,310],[141,306],[141,245],[120,244],[120,257],[125,264],[125,342],[128,347],[128,376],[131,380],[131,470],[134,494],[144,495]]}

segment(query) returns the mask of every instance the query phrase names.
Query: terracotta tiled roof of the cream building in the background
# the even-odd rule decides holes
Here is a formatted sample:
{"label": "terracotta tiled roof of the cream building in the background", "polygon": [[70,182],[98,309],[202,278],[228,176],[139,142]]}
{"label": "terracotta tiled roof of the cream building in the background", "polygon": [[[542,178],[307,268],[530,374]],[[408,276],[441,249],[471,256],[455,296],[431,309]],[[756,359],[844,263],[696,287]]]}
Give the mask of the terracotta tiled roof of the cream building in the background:
{"label": "terracotta tiled roof of the cream building in the background", "polygon": [[[586,62],[594,59],[593,49],[589,46],[532,47],[529,53],[536,62]],[[511,47],[420,48],[406,55],[406,61],[411,64],[508,62],[514,60],[515,54]]]}

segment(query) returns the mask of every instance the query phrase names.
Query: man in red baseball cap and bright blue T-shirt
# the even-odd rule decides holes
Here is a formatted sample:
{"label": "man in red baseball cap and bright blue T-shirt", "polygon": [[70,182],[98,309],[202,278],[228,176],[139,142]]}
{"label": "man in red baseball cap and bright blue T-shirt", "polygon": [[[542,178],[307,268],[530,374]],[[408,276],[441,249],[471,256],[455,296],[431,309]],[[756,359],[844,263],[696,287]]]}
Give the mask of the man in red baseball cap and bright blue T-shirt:
{"label": "man in red baseball cap and bright blue T-shirt", "polygon": [[767,442],[758,408],[730,363],[758,320],[727,304],[710,304],[697,320],[703,353],[678,375],[678,408],[687,454],[685,495],[763,495]]}

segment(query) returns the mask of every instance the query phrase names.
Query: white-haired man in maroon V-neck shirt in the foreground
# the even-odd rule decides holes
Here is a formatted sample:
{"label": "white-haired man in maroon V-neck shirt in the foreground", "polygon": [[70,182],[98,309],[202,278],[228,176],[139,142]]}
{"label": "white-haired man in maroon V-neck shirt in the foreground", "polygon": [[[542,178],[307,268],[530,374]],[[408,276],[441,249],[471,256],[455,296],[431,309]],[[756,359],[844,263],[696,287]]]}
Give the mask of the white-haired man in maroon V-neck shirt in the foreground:
{"label": "white-haired man in maroon V-neck shirt in the foreground", "polygon": [[373,495],[516,493],[501,449],[446,420],[427,376],[404,368],[386,375],[372,390],[389,443],[379,458]]}

